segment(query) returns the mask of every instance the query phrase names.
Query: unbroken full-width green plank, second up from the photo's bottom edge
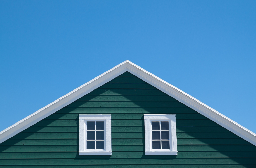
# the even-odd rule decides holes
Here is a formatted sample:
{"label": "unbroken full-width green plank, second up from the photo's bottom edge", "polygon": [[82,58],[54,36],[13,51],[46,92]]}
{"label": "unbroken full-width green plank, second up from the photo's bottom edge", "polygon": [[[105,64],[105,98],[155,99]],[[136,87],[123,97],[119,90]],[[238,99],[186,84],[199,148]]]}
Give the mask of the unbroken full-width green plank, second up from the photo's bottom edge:
{"label": "unbroken full-width green plank, second up from the photo's bottom edge", "polygon": [[162,159],[1,159],[0,165],[106,165],[106,164],[256,164],[254,158],[162,158]]}

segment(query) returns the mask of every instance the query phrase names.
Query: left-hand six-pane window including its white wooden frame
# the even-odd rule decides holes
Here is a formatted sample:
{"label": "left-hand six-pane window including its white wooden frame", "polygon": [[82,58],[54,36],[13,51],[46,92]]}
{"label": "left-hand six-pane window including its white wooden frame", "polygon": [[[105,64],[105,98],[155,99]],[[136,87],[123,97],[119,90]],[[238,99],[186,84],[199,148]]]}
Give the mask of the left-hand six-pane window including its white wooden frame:
{"label": "left-hand six-pane window including its white wooden frame", "polygon": [[79,155],[111,153],[111,115],[79,115]]}

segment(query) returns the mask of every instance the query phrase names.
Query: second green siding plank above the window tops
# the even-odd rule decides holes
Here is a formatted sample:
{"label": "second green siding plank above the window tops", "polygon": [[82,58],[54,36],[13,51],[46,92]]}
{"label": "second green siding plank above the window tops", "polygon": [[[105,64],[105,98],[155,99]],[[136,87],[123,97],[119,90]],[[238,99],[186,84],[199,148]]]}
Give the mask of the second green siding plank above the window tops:
{"label": "second green siding plank above the window tops", "polygon": [[132,102],[80,101],[80,102],[73,102],[67,105],[66,107],[187,107],[187,106],[178,101],[132,101]]}

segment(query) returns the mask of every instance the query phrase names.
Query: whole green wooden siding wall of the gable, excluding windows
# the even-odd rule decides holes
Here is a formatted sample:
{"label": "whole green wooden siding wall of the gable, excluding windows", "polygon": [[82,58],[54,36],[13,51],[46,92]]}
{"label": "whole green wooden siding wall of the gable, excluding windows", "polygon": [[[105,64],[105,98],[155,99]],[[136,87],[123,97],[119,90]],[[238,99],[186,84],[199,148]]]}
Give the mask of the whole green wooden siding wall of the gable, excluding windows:
{"label": "whole green wooden siding wall of the gable, excluding windows", "polygon": [[[79,114],[112,114],[112,156],[79,156]],[[145,155],[143,114],[176,114],[178,155]],[[126,72],[1,143],[0,167],[255,168],[256,147]]]}

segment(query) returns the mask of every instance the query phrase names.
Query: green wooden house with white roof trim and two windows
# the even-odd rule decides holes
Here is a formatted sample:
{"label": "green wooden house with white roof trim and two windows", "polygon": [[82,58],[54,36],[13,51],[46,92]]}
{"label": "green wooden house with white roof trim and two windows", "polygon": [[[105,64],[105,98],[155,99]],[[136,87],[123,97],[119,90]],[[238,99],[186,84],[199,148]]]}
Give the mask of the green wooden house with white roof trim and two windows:
{"label": "green wooden house with white roof trim and two windows", "polygon": [[0,132],[0,167],[255,168],[256,135],[125,61]]}

